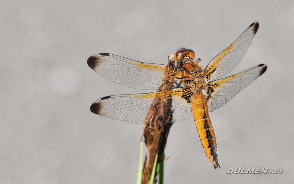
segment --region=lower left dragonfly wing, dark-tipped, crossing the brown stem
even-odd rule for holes
[[[192,89],[189,87],[163,90],[145,94],[113,95],[95,101],[90,110],[101,116],[132,123],[145,124],[150,105],[156,98],[172,99],[173,122],[191,115]],[[163,110],[158,109],[159,112]],[[167,114],[169,116],[169,114]],[[146,123],[148,124],[148,123]]]

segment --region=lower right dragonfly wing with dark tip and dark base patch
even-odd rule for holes
[[[240,90],[262,75],[266,68],[266,64],[259,64],[239,74],[209,82],[207,90],[209,111],[214,111],[231,100]]]

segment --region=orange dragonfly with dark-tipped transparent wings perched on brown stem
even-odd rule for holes
[[[200,64],[201,59],[196,58],[195,52],[187,48],[180,48],[171,55],[174,66],[142,63],[109,53],[89,57],[87,63],[90,68],[106,79],[130,88],[157,90],[163,84],[164,75],[172,78],[171,89],[105,96],[92,103],[91,112],[132,123],[151,124],[148,121],[148,116],[151,116],[148,110],[152,102],[156,99],[171,99],[172,122],[182,121],[193,113],[205,154],[213,163],[214,169],[220,168],[209,112],[220,108],[266,71],[266,64],[259,64],[236,75],[224,77],[243,58],[258,27],[258,22],[252,23],[204,69]],[[164,113],[164,109],[157,111]]]

